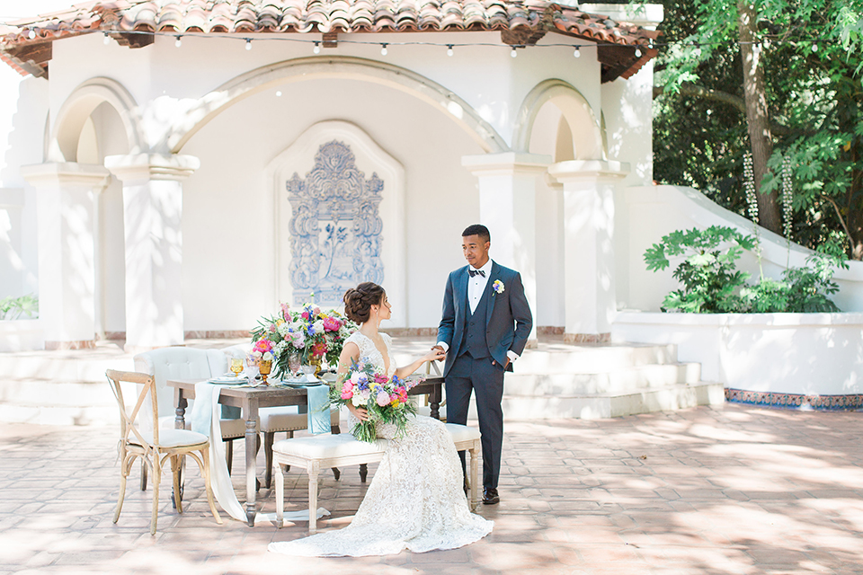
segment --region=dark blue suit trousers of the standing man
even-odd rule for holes
[[[501,475],[503,449],[503,366],[492,365],[493,358],[472,358],[465,353],[452,364],[447,374],[447,421],[465,425],[471,392],[476,393],[476,414],[483,445],[483,487],[497,489]],[[462,468],[465,453],[459,452]]]

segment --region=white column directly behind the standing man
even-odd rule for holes
[[[491,256],[521,274],[533,313],[529,345],[537,341],[537,178],[551,156],[466,155],[461,164],[479,179],[479,219],[492,235]]]

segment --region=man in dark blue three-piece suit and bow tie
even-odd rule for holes
[[[476,392],[485,505],[501,500],[497,480],[503,447],[503,373],[512,371],[533,326],[519,272],[491,261],[491,244],[485,226],[475,224],[462,232],[461,250],[468,265],[449,274],[435,346],[447,352],[443,376],[450,423],[467,423],[470,394]],[[464,466],[464,452],[458,455]]]

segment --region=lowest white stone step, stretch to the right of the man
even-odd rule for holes
[[[722,384],[698,382],[619,394],[504,395],[503,413],[511,420],[598,420],[722,403],[725,403]]]

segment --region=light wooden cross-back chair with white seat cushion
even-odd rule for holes
[[[153,483],[153,514],[150,520],[150,535],[156,535],[156,519],[159,510],[159,483],[162,479],[162,466],[165,460],[171,459],[171,471],[173,473],[173,492],[180,492],[180,469],[182,458],[190,456],[198,464],[200,474],[204,479],[207,490],[207,502],[216,523],[222,524],[222,518],[218,515],[216,502],[213,500],[213,490],[209,482],[209,438],[200,433],[188,429],[159,429],[159,411],[156,399],[156,380],[153,376],[135,372],[115,371],[109,369],[105,372],[111,391],[117,399],[120,407],[120,496],[117,500],[117,510],[114,512],[114,523],[120,518],[123,509],[123,498],[126,495],[126,479],[132,463],[136,457],[140,457],[143,464],[149,469]],[[123,401],[123,390],[120,382],[141,385],[138,402],[127,411],[126,403]],[[141,429],[138,425],[138,414],[145,402],[150,402],[150,414],[153,418],[152,430]],[[200,454],[200,456],[199,456]],[[175,497],[178,513],[182,513],[182,501]]]

